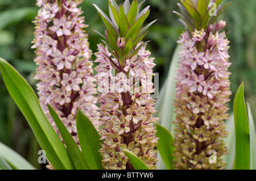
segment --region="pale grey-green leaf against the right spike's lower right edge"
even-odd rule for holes
[[[229,154],[223,155],[222,159],[226,162],[226,170],[233,170],[234,166],[234,155],[236,149],[236,131],[234,125],[234,114],[230,114],[230,118],[225,121],[226,131],[228,131],[228,137],[223,140],[228,147]]]

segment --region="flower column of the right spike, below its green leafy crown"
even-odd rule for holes
[[[200,1],[196,1],[200,2]],[[183,7],[184,9],[184,7]],[[187,12],[189,13],[189,12]],[[230,91],[225,22],[181,34],[175,112],[175,169],[224,169]],[[213,154],[214,153],[214,154]]]

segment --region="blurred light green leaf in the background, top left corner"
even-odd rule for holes
[[[34,7],[5,10],[0,14],[0,30],[10,24],[20,22],[20,20],[24,18],[32,20],[36,16],[37,12],[38,9]]]

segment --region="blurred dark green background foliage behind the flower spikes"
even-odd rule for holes
[[[184,30],[177,16],[172,13],[174,10],[179,11],[177,2],[178,0],[146,0],[144,3],[144,6],[151,6],[147,23],[158,19],[150,28],[145,40],[152,40],[147,48],[151,51],[152,57],[155,57],[154,71],[160,73],[161,85],[167,77],[176,41]],[[223,3],[225,2],[228,1],[224,0]],[[35,3],[35,0],[0,0],[0,57],[9,61],[34,89],[35,54],[30,47],[34,37],[34,24],[31,22],[39,10]],[[102,0],[84,0],[81,5],[86,24],[89,24],[86,31],[89,35],[90,48],[96,52],[101,37],[93,30],[103,33],[105,26],[92,3],[96,3],[104,12],[108,12],[108,3]],[[226,20],[226,31],[230,31],[227,35],[231,41],[230,62],[232,62],[230,79],[233,95],[230,111],[233,107],[234,94],[240,83],[244,82],[246,102],[250,103],[256,118],[256,1],[232,1],[220,19]],[[93,56],[93,60],[94,58]],[[37,162],[39,145],[34,134],[7,92],[1,75],[0,141],[18,151],[36,168],[44,167]]]

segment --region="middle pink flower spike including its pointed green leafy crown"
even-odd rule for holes
[[[126,0],[118,6],[108,1],[110,18],[96,5],[107,29],[104,44],[98,45],[96,62],[98,74],[98,101],[101,103],[102,129],[100,153],[104,169],[134,169],[125,155],[130,150],[150,169],[155,169],[158,144],[155,137],[155,113],[152,76],[155,64],[150,52],[145,50],[142,38],[147,27],[142,28],[149,7],[139,12],[142,5]],[[113,71],[112,71],[113,70]]]

